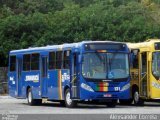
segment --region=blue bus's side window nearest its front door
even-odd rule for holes
[[[67,50],[67,51],[64,51],[64,54],[63,54],[63,68],[64,69],[69,69],[69,65],[70,65],[70,51]]]

